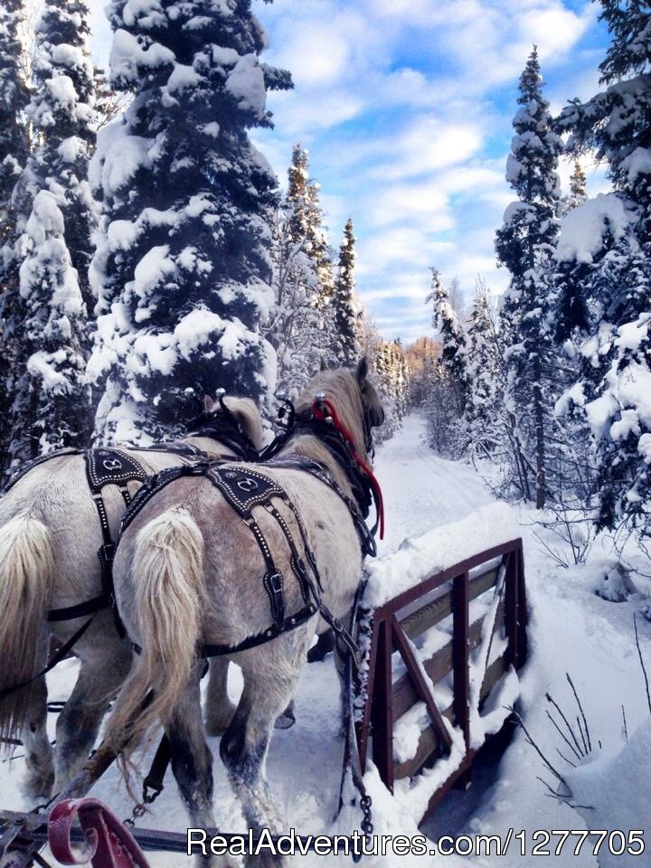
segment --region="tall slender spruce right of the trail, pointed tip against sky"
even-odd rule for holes
[[[552,355],[549,323],[551,254],[558,233],[560,202],[556,174],[561,139],[552,130],[549,103],[542,97],[542,76],[536,49],[520,78],[520,109],[506,164],[506,179],[518,198],[505,212],[495,249],[511,273],[502,319],[507,350],[508,392],[519,428],[535,462],[536,506],[547,492],[547,441],[552,398],[547,367]]]

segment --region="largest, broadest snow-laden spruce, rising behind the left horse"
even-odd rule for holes
[[[277,180],[251,145],[269,127],[250,0],[114,0],[111,85],[134,90],[102,129],[92,175],[104,203],[91,279],[99,323],[90,376],[104,439],[169,436],[222,386],[264,401],[276,358],[260,335],[273,303]]]

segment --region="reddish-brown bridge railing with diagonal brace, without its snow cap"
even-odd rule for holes
[[[496,599],[498,597],[498,599]],[[369,752],[387,788],[399,778],[412,778],[421,769],[446,757],[452,747],[450,728],[444,718],[463,734],[465,752],[447,780],[430,799],[425,816],[453,784],[467,787],[473,757],[478,746],[471,745],[470,664],[472,652],[486,642],[486,611],[471,619],[482,603],[492,612],[495,651],[488,659],[479,688],[479,708],[511,666],[519,669],[526,657],[526,598],[522,540],[515,539],[440,571],[400,593],[373,611],[366,678],[366,699],[356,722],[363,767]],[[488,604],[492,602],[491,608]],[[446,620],[447,619],[447,620]],[[450,625],[451,621],[451,625]],[[422,637],[432,627],[451,627],[451,635],[436,651],[423,659]],[[440,638],[440,637],[439,637]],[[398,659],[401,666],[398,665]],[[396,666],[393,665],[396,660]],[[394,669],[398,669],[394,677]],[[445,681],[447,679],[447,682]],[[439,708],[432,685],[452,682],[452,701]],[[477,698],[477,697],[476,697]],[[394,724],[415,703],[427,708],[429,725],[409,760],[394,759]]]

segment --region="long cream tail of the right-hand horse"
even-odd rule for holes
[[[105,741],[128,758],[181,700],[201,629],[203,536],[182,508],[138,533],[132,566],[140,649],[109,718]],[[151,695],[145,703],[145,698]]]

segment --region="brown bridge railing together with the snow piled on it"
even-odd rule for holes
[[[505,504],[434,528],[373,562],[356,721],[385,786],[424,816],[468,786],[476,751],[514,703],[526,656],[522,540]]]

